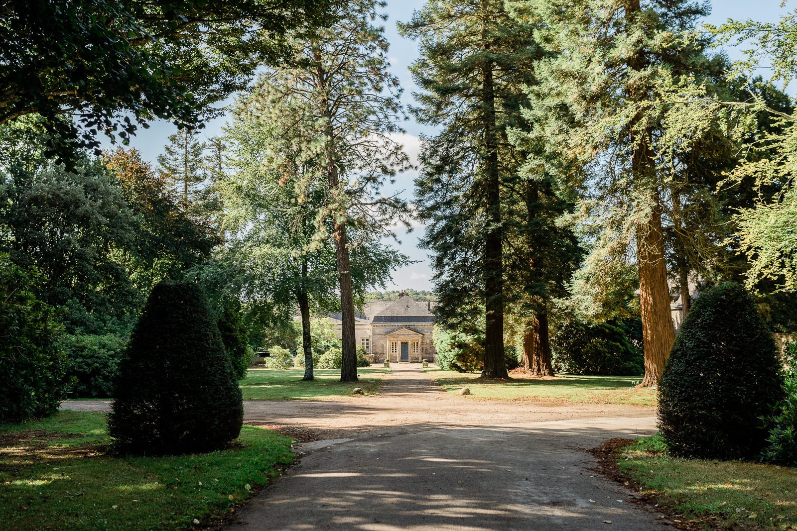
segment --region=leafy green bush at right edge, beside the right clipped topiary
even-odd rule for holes
[[[783,400],[772,408],[764,420],[769,436],[761,459],[797,468],[797,343],[789,343],[786,349]]]

